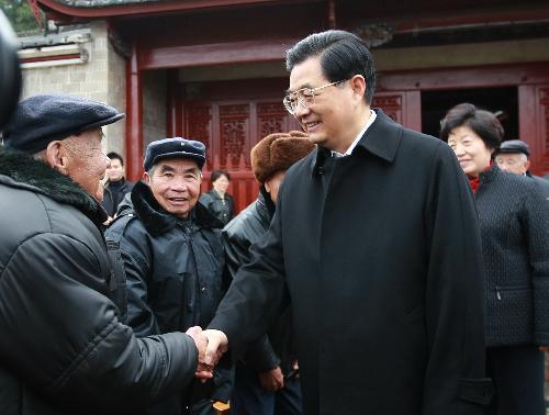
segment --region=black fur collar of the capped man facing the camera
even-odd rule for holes
[[[165,234],[178,224],[183,226],[195,224],[205,228],[223,227],[221,221],[199,202],[191,211],[189,218],[181,220],[173,216],[158,204],[150,188],[143,181],[135,183],[131,200],[137,217],[145,226],[145,229],[153,236]]]

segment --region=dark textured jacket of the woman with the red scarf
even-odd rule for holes
[[[549,227],[541,189],[495,162],[480,180],[486,346],[549,345]]]

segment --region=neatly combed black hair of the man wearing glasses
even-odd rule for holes
[[[347,80],[355,75],[366,79],[366,102],[371,103],[376,90],[376,68],[366,43],[345,31],[314,33],[287,51],[285,68],[291,71],[313,56],[321,56],[323,75],[330,82]]]

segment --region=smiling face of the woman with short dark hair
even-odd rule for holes
[[[456,153],[466,175],[477,177],[490,166],[493,149],[488,148],[468,126],[453,128],[448,135],[448,145]]]

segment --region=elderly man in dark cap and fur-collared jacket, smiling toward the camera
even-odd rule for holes
[[[131,192],[131,205],[107,231],[120,245],[127,281],[127,319],[138,336],[206,326],[225,289],[223,225],[201,203],[205,147],[175,137],[148,145],[144,180]],[[195,381],[184,391],[143,408],[144,414],[214,414],[211,400],[227,402],[228,371]]]

